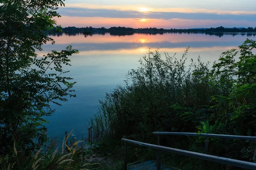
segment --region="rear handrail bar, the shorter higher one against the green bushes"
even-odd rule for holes
[[[256,136],[219,135],[210,133],[184,133],[184,132],[153,132],[154,135],[184,135],[184,136],[205,136],[225,139],[242,139],[256,141]]]

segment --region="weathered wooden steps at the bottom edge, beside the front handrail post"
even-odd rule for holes
[[[157,163],[154,160],[146,161],[127,167],[127,170],[157,170]],[[161,170],[172,170],[166,164],[161,164]]]

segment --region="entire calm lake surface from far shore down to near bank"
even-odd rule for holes
[[[66,76],[73,77],[76,97],[69,98],[63,106],[53,105],[56,112],[48,117],[47,128],[51,137],[63,139],[64,132],[74,128],[76,137],[87,137],[87,126],[90,116],[97,113],[99,100],[105,93],[110,93],[116,85],[124,85],[125,75],[132,68],[137,68],[138,60],[146,55],[148,49],[160,48],[160,52],[176,54],[180,57],[186,47],[190,46],[188,58],[211,63],[220,54],[231,48],[237,48],[246,38],[256,40],[255,34],[224,34],[222,37],[205,34],[134,34],[129,36],[93,35],[84,37],[82,34],[51,36],[55,45],[44,45],[44,51],[39,56],[47,54],[52,49],[63,50],[67,45],[73,45],[79,54],[71,57],[71,67]]]

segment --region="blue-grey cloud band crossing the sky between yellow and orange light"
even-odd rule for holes
[[[209,10],[200,10],[198,12],[192,11],[187,13],[180,9],[181,12],[167,12],[167,11],[151,11],[142,12],[134,10],[117,10],[117,9],[93,9],[93,8],[75,8],[65,7],[59,8],[58,12],[61,15],[69,17],[104,17],[104,18],[148,18],[148,19],[184,19],[184,20],[247,20],[256,21],[256,14],[233,12],[225,13],[209,13]]]

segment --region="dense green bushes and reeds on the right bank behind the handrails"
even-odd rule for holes
[[[256,136],[255,48],[256,42],[247,39],[239,51],[221,54],[212,68],[200,57],[186,67],[189,49],[180,58],[166,54],[162,59],[158,50],[149,52],[139,68],[128,73],[126,86],[117,86],[100,101],[99,112],[91,119],[94,138],[125,136],[155,143],[154,131]],[[163,145],[169,144],[200,152],[204,139],[163,137]],[[211,139],[209,153],[253,161],[255,146],[255,142]]]

